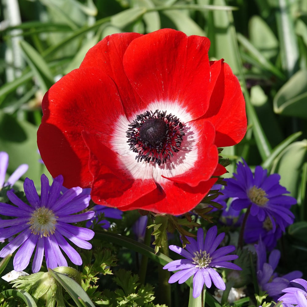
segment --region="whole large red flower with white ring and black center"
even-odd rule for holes
[[[173,29],[120,33],[45,94],[38,148],[64,186],[96,204],[179,215],[225,173],[217,147],[246,132],[245,103],[210,41]]]

